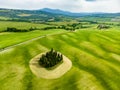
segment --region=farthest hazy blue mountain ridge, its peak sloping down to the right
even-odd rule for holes
[[[40,11],[53,13],[53,14],[62,14],[62,15],[67,15],[67,16],[72,16],[72,17],[85,17],[85,16],[91,16],[91,17],[114,17],[114,16],[120,16],[120,13],[102,13],[102,12],[73,13],[73,12],[63,11],[63,10],[60,10],[60,9],[50,9],[50,8],[43,8],[43,9],[40,9]]]

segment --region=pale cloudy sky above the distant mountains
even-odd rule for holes
[[[0,0],[0,8],[53,8],[71,12],[120,12],[120,0]]]

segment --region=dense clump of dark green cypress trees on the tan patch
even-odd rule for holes
[[[39,65],[50,68],[60,63],[63,60],[62,54],[59,54],[55,50],[51,49],[46,54],[43,54],[39,59]]]

